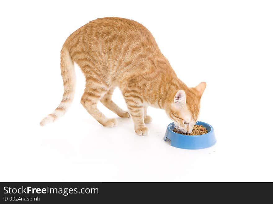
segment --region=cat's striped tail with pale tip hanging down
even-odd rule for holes
[[[64,95],[60,102],[60,105],[51,114],[46,116],[40,125],[47,125],[48,123],[54,122],[60,116],[63,116],[74,99],[75,93],[75,81],[76,74],[74,69],[74,62],[72,61],[67,48],[63,46],[60,56],[61,74],[64,81]]]

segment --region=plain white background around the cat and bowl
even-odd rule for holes
[[[1,1],[0,181],[272,182],[272,10],[272,1]],[[215,146],[171,147],[171,120],[154,108],[147,136],[100,104],[119,121],[101,126],[80,104],[78,66],[72,106],[39,126],[62,98],[62,44],[106,16],[142,23],[182,81],[207,83],[199,119],[213,125]],[[118,89],[113,100],[126,108]]]

